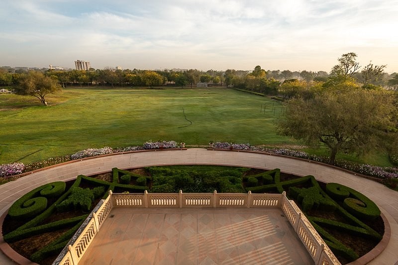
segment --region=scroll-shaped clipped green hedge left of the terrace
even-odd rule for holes
[[[32,218],[47,208],[46,197],[60,196],[65,191],[65,187],[62,181],[40,186],[17,199],[8,209],[8,215],[12,218]]]

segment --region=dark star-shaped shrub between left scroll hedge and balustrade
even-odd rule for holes
[[[58,212],[66,212],[72,209],[81,209],[82,211],[88,212],[91,210],[93,201],[94,194],[92,190],[89,188],[82,189],[80,187],[74,187],[68,199],[62,201],[56,207]]]

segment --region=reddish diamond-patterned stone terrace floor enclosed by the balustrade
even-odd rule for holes
[[[279,208],[119,207],[79,264],[314,263]]]

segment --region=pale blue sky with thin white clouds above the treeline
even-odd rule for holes
[[[0,66],[398,72],[398,0],[0,0]]]

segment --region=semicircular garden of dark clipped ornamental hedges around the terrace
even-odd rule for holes
[[[108,191],[176,192],[180,188],[184,188],[184,192],[211,192],[214,189],[218,192],[238,193],[286,191],[289,199],[296,201],[334,254],[349,262],[356,260],[359,255],[349,245],[341,242],[332,231],[372,240],[375,245],[383,236],[368,225],[369,220],[381,218],[380,209],[373,201],[340,184],[330,183],[321,188],[313,176],[286,177],[280,169],[253,175],[248,173],[250,171],[247,168],[229,167],[206,172],[164,167],[148,167],[145,171],[148,176],[113,168],[110,181],[79,175],[69,189],[66,189],[63,182],[40,186],[11,205],[6,219],[10,218],[18,225],[13,230],[3,227],[3,238],[12,243],[45,232],[66,229],[53,242],[28,257],[40,263],[47,256],[61,252],[98,202],[95,198],[105,199]],[[77,215],[76,210],[80,210]],[[50,216],[63,211],[76,216],[50,221]],[[322,213],[327,214],[327,217],[322,216]]]

